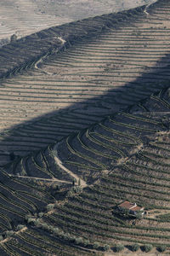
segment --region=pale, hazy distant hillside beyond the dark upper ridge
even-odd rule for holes
[[[132,9],[150,0],[127,1],[81,1],[75,0],[1,0],[0,46],[7,44],[11,35],[18,38],[59,26],[73,20],[103,15],[123,9]]]

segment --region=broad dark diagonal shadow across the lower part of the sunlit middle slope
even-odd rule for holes
[[[152,93],[169,87],[170,65],[165,65],[165,63],[168,63],[169,60],[170,55],[166,55],[158,63],[156,63],[156,67],[152,68],[150,73],[144,73],[134,82],[125,84],[118,90],[113,89],[108,91],[108,93],[104,96],[98,96],[93,98],[93,103],[92,100],[87,100],[86,102],[83,102],[83,104],[76,103],[69,108],[54,111],[52,113],[42,115],[37,119],[31,119],[31,121],[29,122],[15,125],[10,129],[10,131],[3,131],[3,139],[0,142],[0,157],[2,159],[6,158],[6,160],[9,161],[9,153],[14,152],[14,154],[18,154],[17,152],[19,151],[22,152],[22,154],[19,153],[19,155],[26,155],[31,153],[32,151],[46,148],[48,144],[56,143],[57,141],[62,139],[62,137],[67,137],[72,132],[77,132],[81,129],[85,129],[88,126],[99,122],[101,119],[105,119],[105,117],[109,114],[114,114],[117,111],[122,110],[128,111],[128,109],[131,108],[134,104],[138,104],[140,101],[144,101],[144,99],[150,97]],[[141,94],[141,89],[144,91],[144,95]],[[114,92],[114,96],[110,95],[111,92]],[[75,115],[74,117],[72,117],[73,113]],[[77,129],[73,127],[68,130],[68,126],[71,125],[71,121],[68,121],[69,117],[73,121],[77,120],[78,122],[79,119],[80,121],[82,121],[82,117],[80,118],[79,113],[81,113],[84,118],[88,119],[88,123],[85,123],[81,127],[78,127],[78,125],[76,125]],[[64,118],[61,122],[59,121],[58,123],[56,123],[56,128],[54,128],[55,134],[53,134],[53,137],[51,137],[46,142],[46,144],[42,144],[40,146],[41,139],[37,141],[38,132],[40,131],[42,137],[42,131],[44,131],[44,134],[50,134],[50,120],[54,117],[57,118],[60,116]],[[46,124],[46,130],[42,130],[44,123]],[[29,142],[30,137],[32,139],[32,131],[34,131],[37,125],[39,127],[37,128],[37,133],[33,133],[33,137],[35,136],[35,141],[30,148],[28,147],[26,149],[25,152],[20,142]],[[65,131],[63,134],[61,132],[61,129]]]

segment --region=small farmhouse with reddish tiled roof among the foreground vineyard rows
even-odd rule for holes
[[[138,207],[136,203],[124,201],[116,207],[116,211],[125,212],[129,215],[136,216],[138,213],[144,215],[144,207]]]

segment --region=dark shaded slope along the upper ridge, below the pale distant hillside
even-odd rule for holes
[[[144,17],[144,8],[145,6],[140,6],[54,26],[6,44],[0,49],[0,79],[10,78],[11,75],[30,68],[32,63],[44,55],[50,55],[54,50],[70,48],[77,41],[86,41],[88,38],[97,37],[101,32],[128,26]],[[65,47],[61,44],[59,37],[66,41]]]

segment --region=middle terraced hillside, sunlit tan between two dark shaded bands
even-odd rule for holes
[[[57,26],[3,47],[2,165],[10,152],[44,148],[167,86],[168,3],[145,11]]]

